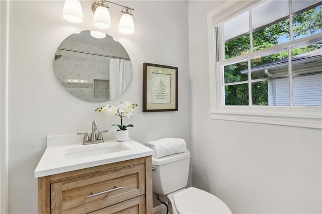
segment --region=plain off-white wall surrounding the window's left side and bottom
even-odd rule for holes
[[[321,213],[321,130],[209,119],[207,13],[189,1],[192,184],[233,213]]]

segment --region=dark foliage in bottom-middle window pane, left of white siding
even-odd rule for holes
[[[252,104],[268,105],[267,81],[252,83]]]

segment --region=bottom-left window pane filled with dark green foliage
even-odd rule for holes
[[[248,84],[226,85],[225,105],[248,105]]]

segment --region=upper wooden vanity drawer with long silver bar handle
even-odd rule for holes
[[[51,211],[88,213],[143,194],[145,165],[140,164],[51,184]]]

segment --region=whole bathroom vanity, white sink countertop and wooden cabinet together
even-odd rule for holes
[[[152,213],[151,149],[132,139],[82,145],[73,138],[47,137],[34,172],[38,213]]]

